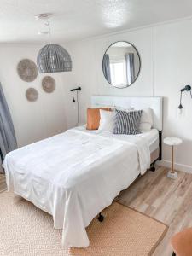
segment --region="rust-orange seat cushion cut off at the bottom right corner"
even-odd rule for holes
[[[192,255],[192,228],[183,230],[172,236],[171,243],[173,251],[177,256]]]

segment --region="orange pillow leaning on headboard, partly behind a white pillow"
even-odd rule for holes
[[[87,130],[98,130],[100,125],[100,109],[111,111],[111,108],[87,108]]]

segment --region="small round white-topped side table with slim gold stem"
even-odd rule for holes
[[[173,158],[174,158],[174,146],[177,146],[181,143],[183,143],[182,139],[179,137],[166,137],[163,142],[166,145],[172,146],[172,169],[167,173],[167,177],[171,177],[173,179],[177,178],[177,172],[174,171],[174,163],[173,163]]]

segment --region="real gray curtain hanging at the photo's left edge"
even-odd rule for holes
[[[0,84],[0,156],[3,161],[5,154],[17,148],[14,125],[9,113],[8,104]],[[1,164],[0,161],[0,164]],[[0,171],[1,172],[1,171]]]

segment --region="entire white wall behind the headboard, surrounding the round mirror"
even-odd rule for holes
[[[65,79],[69,88],[74,84],[82,86],[79,96],[81,123],[85,122],[86,108],[90,106],[93,94],[164,96],[163,136],[183,138],[183,144],[176,150],[176,168],[192,172],[192,100],[189,94],[183,96],[186,116],[177,119],[179,90],[185,84],[192,84],[191,31],[192,21],[183,20],[68,44],[73,72],[67,73]],[[102,55],[108,45],[120,40],[134,44],[142,60],[137,81],[126,89],[113,88],[102,74]],[[73,118],[76,112],[69,93],[67,106],[70,115],[67,126],[72,127],[76,122]],[[169,160],[170,148],[163,146],[162,164],[170,165]]]

